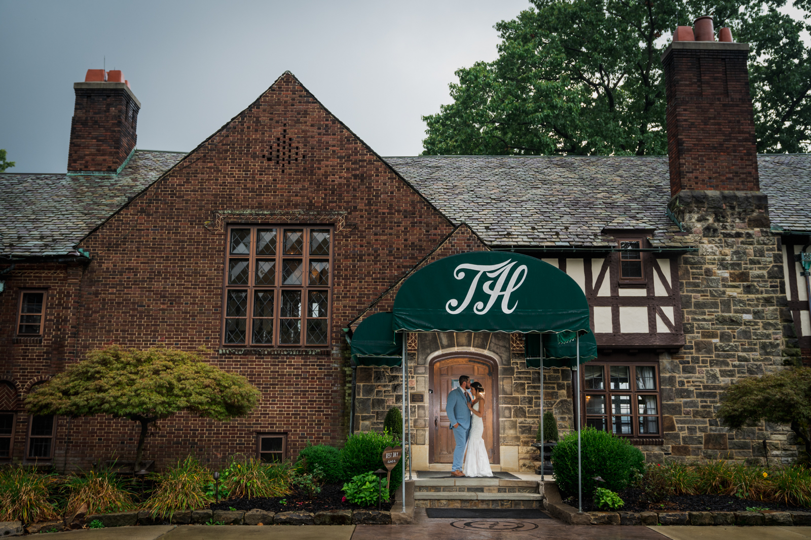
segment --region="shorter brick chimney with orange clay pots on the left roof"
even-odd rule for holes
[[[135,149],[140,101],[120,70],[88,70],[73,88],[68,172],[118,172]]]

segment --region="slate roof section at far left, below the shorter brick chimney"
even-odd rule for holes
[[[64,255],[185,156],[136,150],[118,176],[0,174],[0,257]]]

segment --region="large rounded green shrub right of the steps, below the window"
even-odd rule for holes
[[[628,440],[586,427],[581,431],[583,498],[598,487],[622,491],[645,471],[645,457]],[[565,495],[577,495],[577,432],[564,436],[552,449],[557,485]],[[599,476],[605,482],[594,480]]]

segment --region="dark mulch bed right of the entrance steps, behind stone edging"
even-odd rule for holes
[[[671,495],[661,503],[645,500],[641,489],[629,488],[620,491],[620,499],[625,503],[620,512],[744,512],[747,507],[769,508],[770,510],[797,510],[809,512],[809,508],[797,508],[785,504],[767,503],[762,500],[739,499],[732,495]],[[569,497],[564,503],[577,508],[577,497]],[[598,512],[601,508],[586,497],[583,498],[584,512]]]

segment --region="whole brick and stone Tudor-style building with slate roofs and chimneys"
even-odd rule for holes
[[[692,33],[692,32],[691,32]],[[682,35],[682,34],[680,34]],[[663,54],[669,159],[382,158],[285,73],[193,151],[136,149],[121,72],[75,83],[67,174],[0,174],[0,461],[58,470],[132,459],[136,423],[30,417],[32,388],[118,344],[195,351],[262,393],[244,419],[179,414],[145,457],[294,457],[341,445],[402,406],[400,368],[355,367],[347,334],[404,279],[454,253],[541,258],[590,304],[599,358],[545,370],[562,429],[628,436],[650,461],[796,456],[787,427],[727,432],[723,385],[811,362],[811,158],[757,155],[749,48]],[[517,334],[407,340],[413,464],[449,466],[440,396],[460,373],[493,400],[494,468],[534,466],[541,374]]]

